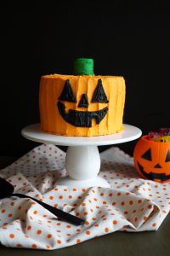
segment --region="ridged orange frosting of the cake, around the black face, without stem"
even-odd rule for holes
[[[62,102],[65,104],[65,111],[68,112],[69,109],[97,111],[107,107],[108,112],[99,125],[93,119],[92,127],[76,127],[66,123],[65,119],[59,114],[57,102],[59,101],[59,96],[61,95],[66,79],[70,80],[71,88],[77,97],[77,102]],[[94,90],[99,79],[102,80],[105,94],[109,101],[108,103],[92,102]],[[92,137],[122,131],[125,90],[125,81],[122,77],[61,74],[42,76],[39,90],[41,130],[53,134],[77,137]],[[82,94],[88,96],[88,108],[78,107]]]

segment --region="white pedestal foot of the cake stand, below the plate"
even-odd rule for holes
[[[70,146],[65,157],[68,177],[60,178],[59,185],[76,187],[100,186],[110,188],[104,178],[98,177],[100,156],[97,146]]]

